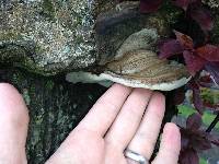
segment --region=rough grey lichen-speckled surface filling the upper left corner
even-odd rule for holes
[[[53,74],[95,61],[94,0],[1,0],[1,59]]]

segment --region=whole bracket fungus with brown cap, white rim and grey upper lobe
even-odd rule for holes
[[[154,33],[155,31],[149,30],[147,32]],[[74,83],[103,83],[110,80],[131,87],[145,87],[160,91],[171,91],[186,84],[191,75],[185,66],[176,61],[160,59],[158,55],[151,50],[153,49],[152,47],[143,47],[142,34],[147,38],[149,37],[149,33],[146,33],[146,30],[129,36],[117,50],[114,59],[102,66],[103,70],[101,73],[71,72],[67,74],[67,81]],[[139,37],[139,35],[141,37]],[[135,36],[138,36],[141,42]],[[131,44],[134,37],[136,40]],[[158,39],[157,37],[152,38]],[[151,42],[155,43],[155,40]],[[129,44],[127,45],[127,43]]]

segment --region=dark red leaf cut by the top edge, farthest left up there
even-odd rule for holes
[[[150,13],[154,12],[161,5],[162,0],[140,0],[140,12]]]

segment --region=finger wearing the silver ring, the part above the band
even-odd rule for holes
[[[142,154],[147,159],[151,157],[160,132],[164,110],[164,96],[161,93],[154,92],[146,109],[141,125],[130,141],[128,149]]]

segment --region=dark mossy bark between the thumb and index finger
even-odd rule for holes
[[[0,82],[12,83],[28,107],[30,164],[43,164],[106,90],[97,84],[73,85],[64,77],[45,78],[19,69],[1,69]]]

